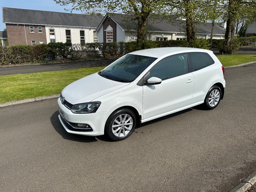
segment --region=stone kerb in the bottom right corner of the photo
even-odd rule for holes
[[[231,189],[229,192],[245,192],[256,183],[256,171],[246,177],[241,183]]]

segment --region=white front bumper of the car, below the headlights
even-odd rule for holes
[[[99,136],[104,134],[108,112],[87,114],[72,113],[68,108],[61,104],[60,98],[58,98],[58,109],[60,112],[58,118],[68,133],[87,136]],[[77,124],[87,124],[88,126],[86,128],[79,128]]]

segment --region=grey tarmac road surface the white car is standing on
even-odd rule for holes
[[[226,69],[217,108],[144,123],[120,142],[68,134],[56,99],[2,107],[0,191],[228,192],[256,170],[255,74],[256,64]]]

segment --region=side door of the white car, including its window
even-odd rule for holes
[[[159,61],[145,76],[162,79],[160,84],[143,85],[143,121],[167,115],[189,105],[194,76],[188,73],[187,54],[173,55]]]

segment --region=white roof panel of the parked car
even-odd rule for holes
[[[198,49],[191,47],[160,47],[160,48],[152,48],[152,49],[143,49],[139,51],[130,52],[132,55],[143,55],[148,57],[160,58],[167,55],[175,55],[183,52],[212,52],[207,49]]]

